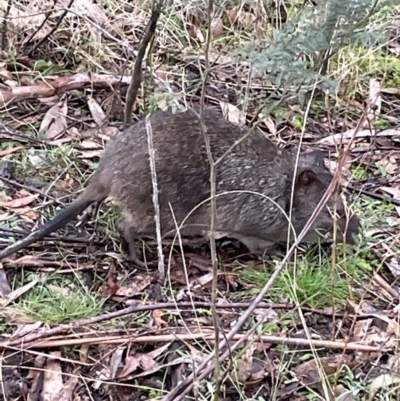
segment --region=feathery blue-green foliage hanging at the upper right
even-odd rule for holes
[[[278,87],[317,84],[326,92],[335,92],[337,82],[326,75],[328,60],[350,44],[372,47],[382,42],[387,25],[373,24],[373,17],[391,4],[392,0],[309,2],[263,43],[263,51],[253,41],[238,52],[252,60],[254,76]]]

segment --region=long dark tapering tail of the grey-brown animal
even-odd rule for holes
[[[36,231],[29,234],[27,237],[14,244],[8,246],[6,249],[0,252],[0,260],[18,252],[19,250],[26,248],[30,244],[46,237],[52,232],[64,227],[68,222],[73,220],[78,214],[82,213],[86,208],[88,208],[94,202],[93,199],[77,199],[71,205],[67,206],[62,210],[54,219],[48,221],[39,227]]]

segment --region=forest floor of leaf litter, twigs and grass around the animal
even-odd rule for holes
[[[337,94],[301,98],[251,76],[241,54],[249,43],[267,43],[303,2],[236,3],[213,16],[207,104],[228,110],[234,123],[243,116],[250,123],[264,106],[259,129],[280,147],[301,141],[324,151],[332,171],[338,144],[351,140],[369,97],[375,107],[341,179],[362,235],[354,246],[296,250],[234,337],[244,341],[221,363],[219,399],[397,400],[400,8],[374,18],[375,27],[388,24],[383,44],[343,46],[332,57],[327,75],[340,83]],[[1,1],[0,8],[7,21],[0,61],[4,249],[74,200],[118,135],[150,10],[146,1],[115,0]],[[134,107],[138,118],[177,101],[199,102],[206,22],[190,2],[163,11]],[[257,51],[263,55],[261,45]],[[147,269],[124,259],[118,214],[106,202],[1,261],[0,400],[167,400],[214,350],[209,245],[165,243],[168,278],[160,282],[154,239],[141,244]],[[285,251],[260,259],[229,239],[217,242],[221,339]],[[185,399],[217,399],[213,376],[194,382],[196,392]]]

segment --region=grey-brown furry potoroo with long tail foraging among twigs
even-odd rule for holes
[[[239,141],[248,131],[223,118],[217,110],[206,108],[203,118],[212,157],[214,161],[221,158],[215,165],[216,237],[235,238],[250,252],[258,253],[286,242],[288,230],[298,234],[332,179],[324,166],[322,152],[301,153],[296,163],[295,152],[278,148],[257,130]],[[210,165],[199,114],[191,109],[176,114],[157,112],[149,121],[162,234],[175,234],[179,227],[182,236],[207,237],[211,216]],[[93,202],[105,198],[120,206],[129,259],[140,263],[135,239],[155,236],[153,184],[144,119],[127,127],[109,143],[89,185],[72,204],[0,252],[0,259],[43,239]],[[350,243],[359,232],[357,217],[348,217],[340,198],[333,198],[320,212],[304,242],[315,242],[332,232],[333,209],[338,242]],[[290,208],[291,225],[287,218]]]

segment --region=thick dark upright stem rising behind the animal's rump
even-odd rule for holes
[[[142,82],[142,62],[144,55],[146,53],[147,45],[151,41],[152,37],[155,34],[157,21],[161,13],[162,1],[154,0],[153,8],[151,11],[150,21],[146,27],[146,33],[140,43],[140,47],[138,50],[138,54],[136,56],[135,66],[132,72],[132,81],[129,85],[128,92],[126,95],[125,102],[125,115],[124,115],[124,124],[122,128],[126,128],[132,122],[132,109],[136,100],[137,93],[139,91],[139,86]]]

